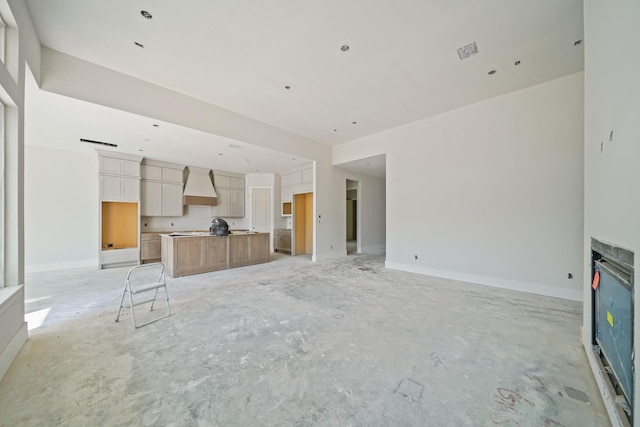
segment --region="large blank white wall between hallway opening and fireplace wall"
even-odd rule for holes
[[[580,300],[582,87],[578,73],[337,147],[386,152],[387,267]]]

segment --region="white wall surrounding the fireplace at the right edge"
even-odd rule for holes
[[[584,343],[614,425],[612,397],[605,391],[591,352],[590,240],[592,237],[635,253],[640,283],[640,2],[587,0],[585,13],[585,227]],[[609,137],[613,131],[613,140]],[[602,149],[601,149],[602,148]],[[634,292],[640,306],[640,292]],[[634,324],[640,321],[634,310]],[[640,328],[634,328],[640,342]],[[637,344],[636,344],[637,354]],[[634,361],[639,372],[640,358]],[[640,410],[640,376],[634,380],[635,418]]]

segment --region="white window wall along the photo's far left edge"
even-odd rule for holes
[[[0,181],[4,185],[4,222],[0,244],[4,245],[4,287],[0,288],[0,379],[27,340],[24,321],[24,82],[27,64],[40,76],[39,41],[22,0],[0,2],[8,24],[6,58],[0,65],[0,98],[5,104],[4,150]],[[18,30],[19,29],[19,30]],[[2,271],[3,270],[3,271]]]

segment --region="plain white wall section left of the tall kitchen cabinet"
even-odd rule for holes
[[[97,155],[25,147],[25,267],[97,266]]]

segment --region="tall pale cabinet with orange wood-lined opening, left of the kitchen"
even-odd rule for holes
[[[137,264],[140,258],[141,156],[98,152],[100,268]]]

